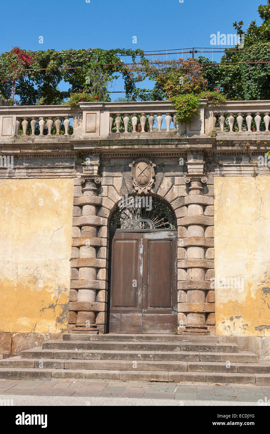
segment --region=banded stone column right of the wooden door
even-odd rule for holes
[[[186,259],[180,264],[186,268],[183,289],[187,291],[187,298],[180,308],[187,315],[183,333],[205,335],[209,333],[206,314],[215,308],[205,302],[205,290],[210,289],[210,283],[205,282],[205,269],[213,267],[213,261],[205,259],[205,226],[213,225],[213,217],[204,215],[203,207],[209,204],[210,198],[202,196],[203,184],[207,181],[202,155],[189,155],[187,166],[189,172],[184,181],[189,185],[189,195],[185,197],[188,215],[181,219],[181,225],[187,227]]]

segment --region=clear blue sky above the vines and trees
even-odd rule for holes
[[[235,33],[232,23],[260,23],[266,0],[13,0],[1,2],[0,50],[211,47],[212,33]],[[43,43],[39,43],[43,36]],[[133,43],[137,37],[137,44]],[[214,55],[220,61],[222,54]],[[211,53],[208,54],[211,58]],[[153,57],[155,58],[155,56]],[[159,57],[159,59],[164,58]],[[122,82],[114,90],[123,90]],[[121,94],[115,94],[115,97]],[[123,96],[123,94],[122,94]]]

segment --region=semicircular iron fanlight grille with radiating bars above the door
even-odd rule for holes
[[[110,223],[111,230],[168,230],[176,229],[176,218],[171,208],[157,197],[152,197],[152,209],[141,204],[116,207]]]

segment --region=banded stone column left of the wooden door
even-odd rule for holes
[[[98,333],[96,312],[104,311],[104,303],[96,302],[96,291],[105,289],[106,282],[97,280],[97,268],[106,267],[106,260],[97,256],[98,227],[104,219],[98,216],[97,207],[101,205],[98,187],[99,157],[91,156],[84,166],[80,178],[83,196],[74,199],[75,215],[73,226],[80,230],[79,237],[72,242],[72,270],[77,269],[78,277],[72,278],[71,289],[78,291],[76,301],[69,303],[70,311],[77,312],[75,328],[72,333]],[[77,210],[78,208],[78,210]],[[78,214],[76,214],[78,212]]]

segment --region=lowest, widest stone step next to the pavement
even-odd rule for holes
[[[118,381],[171,381],[202,384],[250,384],[270,386],[270,374],[240,374],[226,372],[119,371],[84,369],[0,368],[0,379],[49,380],[51,378],[103,379]]]

